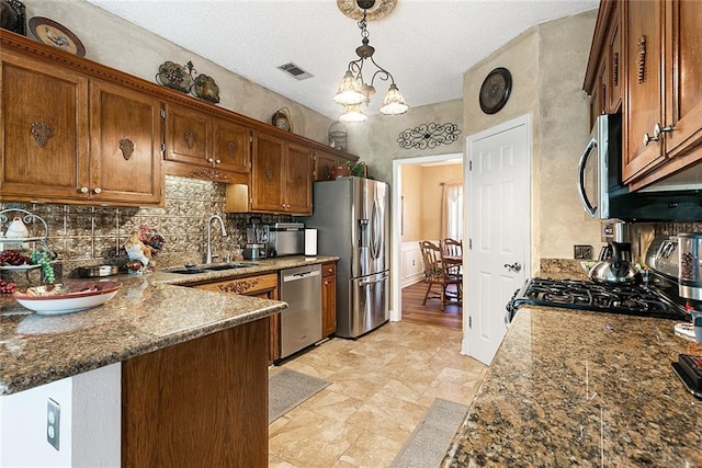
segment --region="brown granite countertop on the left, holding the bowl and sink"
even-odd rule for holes
[[[37,316],[0,297],[0,396],[26,390],[283,311],[287,305],[213,293],[189,283],[278,272],[336,256],[260,260],[251,267],[182,275],[155,272],[105,279],[123,288],[94,309]],[[98,281],[97,278],[95,281]]]

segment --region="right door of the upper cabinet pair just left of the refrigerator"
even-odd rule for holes
[[[313,151],[310,148],[287,142],[286,212],[312,215]]]

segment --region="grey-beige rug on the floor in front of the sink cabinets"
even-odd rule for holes
[[[281,369],[268,379],[268,423],[305,402],[329,384],[296,370]]]

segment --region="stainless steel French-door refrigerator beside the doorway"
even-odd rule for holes
[[[389,187],[384,182],[341,178],[315,182],[317,252],[339,256],[337,336],[358,338],[389,318]]]

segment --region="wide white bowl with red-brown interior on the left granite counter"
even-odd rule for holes
[[[15,292],[14,298],[20,305],[38,315],[78,312],[105,304],[120,292],[117,282],[80,282],[67,285],[30,287],[26,292]]]

